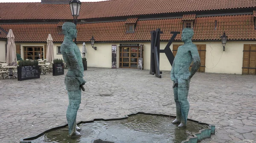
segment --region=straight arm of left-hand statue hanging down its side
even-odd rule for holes
[[[85,81],[83,79],[84,73],[81,70],[81,67],[79,66],[75,51],[71,48],[66,49],[67,57],[70,61],[70,68],[75,73],[75,76],[80,81],[80,84],[84,84]]]

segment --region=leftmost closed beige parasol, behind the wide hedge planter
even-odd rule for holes
[[[12,33],[12,29],[9,30],[7,34],[7,55],[6,55],[6,63],[9,66],[17,66],[17,56],[15,50],[15,42],[14,35]]]

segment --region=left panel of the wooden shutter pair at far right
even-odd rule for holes
[[[249,62],[250,62],[250,44],[244,44],[244,56],[243,56],[243,67],[242,74],[249,74]]]

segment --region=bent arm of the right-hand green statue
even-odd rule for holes
[[[200,56],[199,56],[198,49],[197,49],[196,45],[194,45],[190,48],[190,52],[191,52],[192,60],[193,60],[193,64],[192,64],[192,68],[191,68],[191,72],[190,72],[190,78],[192,78],[192,76],[194,76],[194,74],[200,67],[201,60],[200,60]]]

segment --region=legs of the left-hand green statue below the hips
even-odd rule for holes
[[[68,123],[68,135],[80,135],[76,131],[76,114],[81,103],[81,90],[68,91],[69,105],[67,107],[67,123]]]

